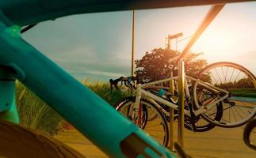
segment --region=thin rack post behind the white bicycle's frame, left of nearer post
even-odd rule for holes
[[[170,78],[174,77],[173,71],[170,72]],[[174,95],[174,80],[170,80],[170,94]],[[174,151],[174,109],[170,108],[170,126],[169,126],[169,135],[170,135],[170,151]]]

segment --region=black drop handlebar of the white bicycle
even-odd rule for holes
[[[119,89],[119,88],[117,87],[117,85],[118,85],[119,82],[121,82],[121,85],[123,85],[123,83],[124,83],[124,85],[125,85],[126,87],[128,87],[128,88],[131,88],[131,89],[132,89],[132,88],[135,88],[135,82],[134,82],[134,81],[138,81],[138,80],[137,80],[137,77],[130,76],[130,77],[119,77],[119,78],[117,78],[117,79],[115,79],[115,80],[110,79],[110,80],[109,80],[109,82],[110,82],[110,90],[111,90],[111,92],[112,92],[113,87]],[[133,82],[133,83],[132,83],[132,82]]]

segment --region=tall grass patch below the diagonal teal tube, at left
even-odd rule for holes
[[[57,133],[63,119],[47,103],[44,103],[20,83],[17,83],[16,96],[17,110],[22,126],[41,130],[48,134]]]

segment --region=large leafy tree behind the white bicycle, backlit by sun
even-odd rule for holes
[[[168,77],[171,67],[174,66],[174,63],[168,61],[179,54],[178,51],[162,48],[154,49],[151,53],[146,52],[143,58],[135,61],[136,76],[139,77],[139,81],[143,82],[157,81]],[[197,73],[207,65],[206,60],[197,59],[199,55],[201,53],[190,53],[185,58],[185,73],[191,77],[197,77]],[[177,75],[177,72],[174,71],[174,75]]]

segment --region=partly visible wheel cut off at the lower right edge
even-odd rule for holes
[[[251,149],[256,150],[256,119],[251,120],[243,131],[243,141]]]

